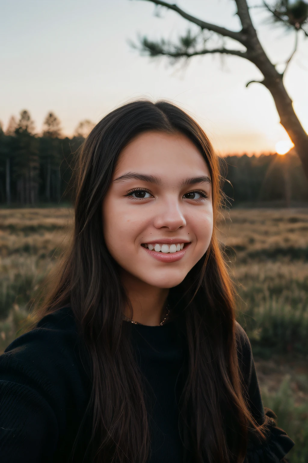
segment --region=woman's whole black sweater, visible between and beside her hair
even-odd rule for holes
[[[128,323],[128,322],[123,322]],[[239,360],[256,416],[264,414],[250,344],[238,326]],[[182,463],[175,400],[183,350],[175,323],[133,325],[137,361],[151,400],[149,463]],[[0,462],[69,462],[91,391],[85,358],[69,307],[47,315],[36,328],[10,344],[0,356]],[[150,402],[148,402],[150,403]],[[86,416],[86,415],[85,415]],[[73,462],[90,462],[87,443],[91,419],[85,419]],[[249,463],[278,463],[294,445],[284,431],[269,428],[265,444],[248,445]]]

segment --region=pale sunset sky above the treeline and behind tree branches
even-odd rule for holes
[[[174,3],[173,1],[170,3]],[[251,5],[260,0],[250,1]],[[233,0],[180,0],[177,5],[208,22],[239,30]],[[236,56],[201,56],[170,66],[167,58],[139,56],[128,39],[176,38],[192,25],[174,12],[153,13],[140,0],[12,0],[0,13],[0,121],[28,109],[42,129],[46,113],[61,120],[71,136],[82,119],[97,123],[128,100],[168,99],[199,122],[220,154],[275,150],[287,134],[279,125],[271,94],[260,84],[245,85],[261,75]],[[284,63],[294,35],[260,25],[266,13],[252,11],[254,25],[268,56]],[[231,41],[228,46],[235,46]],[[299,40],[285,85],[302,125],[308,131],[308,39]]]

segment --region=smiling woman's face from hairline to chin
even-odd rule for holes
[[[205,254],[213,230],[210,171],[181,133],[148,131],[121,152],[103,199],[115,261],[151,286],[172,288]]]

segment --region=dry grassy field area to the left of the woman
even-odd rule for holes
[[[66,248],[72,219],[69,208],[0,209],[0,351]]]

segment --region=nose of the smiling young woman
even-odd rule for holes
[[[177,201],[164,201],[158,208],[153,224],[155,228],[166,227],[170,232],[175,232],[178,228],[185,227],[186,220]]]

